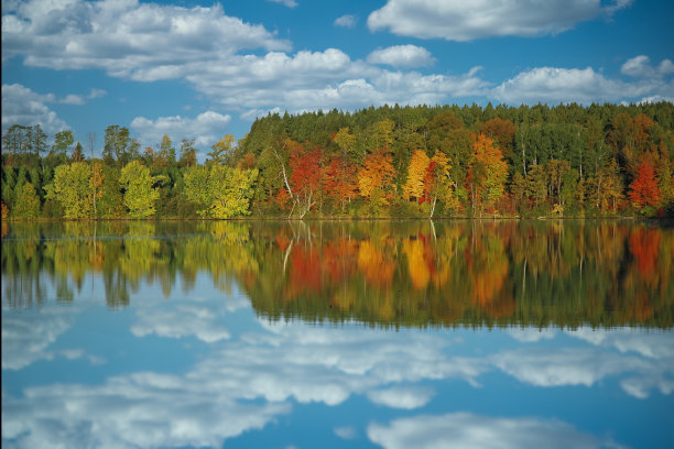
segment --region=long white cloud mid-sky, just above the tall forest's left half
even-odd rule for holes
[[[336,48],[294,56],[241,56],[224,66],[204,65],[187,79],[227,108],[244,105],[249,110],[269,110],[282,106],[293,112],[394,102],[436,103],[448,96],[482,92],[487,86],[476,77],[476,70],[458,76],[390,72],[351,61]]]

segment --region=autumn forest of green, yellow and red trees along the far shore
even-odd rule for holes
[[[95,142],[9,128],[2,218],[674,216],[667,101],[270,113],[203,163],[195,140],[167,134],[141,149],[109,125]]]

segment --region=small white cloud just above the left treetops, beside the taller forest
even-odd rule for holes
[[[230,120],[229,114],[214,111],[199,113],[194,119],[181,116],[160,117],[156,120],[137,117],[131,121],[131,129],[146,145],[159,143],[164,134],[168,134],[176,149],[182,139],[195,139],[196,146],[208,146],[225,134]]]

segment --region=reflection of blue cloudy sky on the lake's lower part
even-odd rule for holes
[[[632,447],[672,438],[672,332],[257,319],[197,278],[2,310],[8,447]],[[311,430],[309,430],[311,429]]]

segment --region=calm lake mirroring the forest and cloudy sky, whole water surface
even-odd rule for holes
[[[671,447],[674,229],[2,222],[2,446]]]

